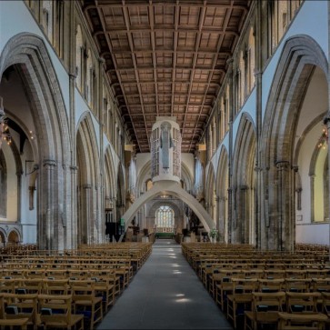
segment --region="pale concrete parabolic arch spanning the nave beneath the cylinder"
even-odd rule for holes
[[[205,211],[205,208],[198,203],[194,196],[188,194],[178,183],[174,181],[157,181],[154,186],[148,190],[144,195],[141,195],[135,200],[135,203],[122,215],[125,220],[125,230],[130,224],[131,220],[137,213],[137,211],[145,205],[148,201],[155,198],[157,195],[175,195],[180,198],[186,205],[195,212],[199,220],[205,227],[206,231],[210,231],[215,227],[215,223],[211,216]]]

